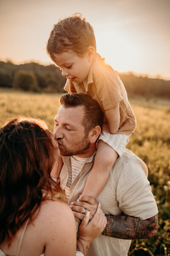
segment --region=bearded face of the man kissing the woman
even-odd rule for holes
[[[90,142],[82,125],[84,111],[82,106],[59,108],[54,118],[54,134],[62,156],[77,155],[86,157]]]

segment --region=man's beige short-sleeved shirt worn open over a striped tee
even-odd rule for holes
[[[63,157],[63,162],[60,173],[62,189],[65,188],[68,174],[71,172],[70,157]],[[68,204],[77,201],[82,193],[93,163],[94,155],[82,166],[72,183]],[[104,189],[96,198],[105,214],[118,216],[124,213],[144,220],[158,213],[145,173],[145,163],[125,149],[122,157],[114,163]],[[88,256],[127,256],[130,243],[131,240],[100,235],[91,243]]]

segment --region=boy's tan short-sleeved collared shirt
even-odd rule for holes
[[[105,64],[105,58],[101,58],[98,53],[94,57],[88,74],[86,90],[83,83],[77,84],[70,79],[67,79],[64,89],[68,93],[85,93],[90,95],[99,103],[103,112],[119,103],[120,125],[118,132],[115,134],[130,136],[136,128],[136,118],[130,107],[121,79],[111,66]],[[104,119],[104,122],[106,122],[106,119]]]

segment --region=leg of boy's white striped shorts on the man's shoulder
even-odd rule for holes
[[[128,136],[125,134],[110,134],[108,132],[102,131],[99,140],[103,140],[105,143],[111,146],[119,157],[122,156],[127,143],[129,142]]]

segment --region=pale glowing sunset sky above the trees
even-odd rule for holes
[[[74,12],[91,23],[113,69],[170,79],[170,0],[0,0],[0,60],[52,63],[48,35]]]

